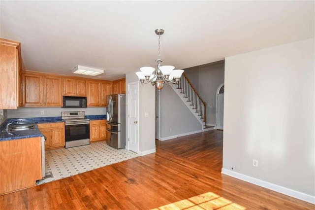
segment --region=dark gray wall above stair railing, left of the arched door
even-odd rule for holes
[[[202,100],[207,103],[207,125],[215,125],[217,90],[224,82],[224,61],[192,67],[186,69],[185,74]]]

